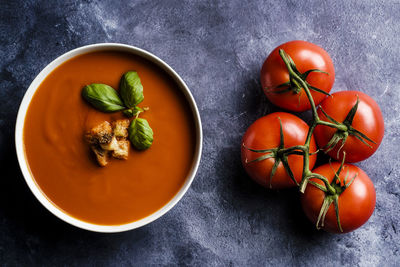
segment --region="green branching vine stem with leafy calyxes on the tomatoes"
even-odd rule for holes
[[[245,164],[252,164],[254,162],[274,158],[275,162],[274,162],[274,165],[271,170],[270,177],[269,177],[270,185],[271,185],[271,179],[274,176],[278,165],[280,163],[282,163],[286,172],[289,174],[290,178],[299,187],[299,191],[301,193],[305,192],[308,184],[311,184],[314,187],[318,188],[319,190],[323,191],[325,193],[325,198],[323,200],[323,203],[322,203],[322,206],[321,206],[318,218],[317,218],[316,227],[319,229],[320,226],[324,225],[325,215],[328,212],[329,207],[333,204],[334,208],[335,208],[335,213],[336,213],[337,226],[338,226],[340,232],[343,232],[341,222],[340,222],[340,217],[339,217],[338,199],[339,199],[339,195],[342,194],[352,184],[352,182],[354,181],[354,179],[356,178],[357,175],[354,175],[354,177],[352,177],[350,180],[348,179],[348,175],[346,175],[346,177],[343,180],[340,180],[339,175],[340,175],[341,171],[343,170],[343,166],[344,166],[344,162],[345,162],[345,155],[346,155],[345,151],[342,151],[342,153],[343,153],[342,162],[340,164],[339,169],[335,172],[334,178],[332,179],[331,182],[329,182],[329,180],[325,176],[315,173],[315,172],[312,172],[310,170],[310,156],[312,154],[316,153],[316,152],[312,152],[312,153],[310,152],[310,142],[312,140],[313,132],[318,125],[328,126],[328,127],[336,129],[336,132],[333,135],[333,137],[331,138],[331,140],[328,142],[328,144],[325,147],[322,148],[322,150],[324,150],[326,152],[331,150],[336,145],[338,145],[339,142],[341,142],[341,144],[342,144],[341,148],[342,148],[349,135],[355,136],[358,140],[360,140],[362,143],[364,143],[367,146],[370,146],[370,145],[366,142],[366,140],[369,142],[372,142],[372,143],[374,143],[374,142],[373,142],[373,140],[368,138],[365,134],[354,129],[351,126],[353,118],[354,118],[355,113],[358,108],[358,103],[359,103],[358,99],[357,99],[356,104],[351,108],[351,110],[349,111],[349,113],[347,114],[347,116],[343,122],[336,121],[335,119],[330,117],[328,114],[326,114],[325,111],[322,109],[321,109],[321,112],[325,115],[325,117],[327,118],[328,121],[321,120],[318,116],[317,107],[316,107],[316,104],[314,102],[314,99],[313,99],[313,96],[312,96],[310,90],[314,90],[319,93],[324,93],[326,95],[329,95],[329,93],[326,93],[316,87],[311,86],[306,81],[306,78],[307,78],[308,74],[310,74],[311,72],[319,72],[324,75],[329,75],[329,73],[318,70],[318,69],[311,69],[311,70],[307,70],[304,73],[300,73],[295,65],[295,62],[283,49],[279,49],[279,55],[287,67],[287,71],[289,73],[289,81],[273,88],[273,89],[281,89],[282,88],[282,90],[274,91],[274,92],[277,94],[280,94],[280,93],[286,93],[286,92],[292,91],[295,94],[301,94],[301,92],[302,92],[301,90],[304,90],[304,92],[308,98],[308,101],[311,105],[312,122],[309,125],[307,137],[306,137],[306,140],[303,145],[296,145],[296,146],[285,148],[284,135],[283,135],[283,131],[282,131],[282,122],[279,118],[279,123],[280,123],[279,146],[276,148],[272,148],[272,149],[252,149],[252,148],[246,147],[243,143],[243,146],[245,147],[245,149],[250,150],[252,152],[264,154],[264,155],[254,159],[254,160],[251,160],[251,161],[248,161],[246,159]],[[338,152],[337,152],[338,154],[341,151],[341,148],[338,150]],[[298,183],[296,181],[296,179],[294,178],[292,170],[290,169],[290,166],[287,161],[287,157],[292,154],[301,155],[303,157],[303,170],[302,170],[302,177],[301,177],[300,183]],[[322,181],[323,184],[316,183],[316,182],[312,181],[311,179],[318,179],[318,180]]]

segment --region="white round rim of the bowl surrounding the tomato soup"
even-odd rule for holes
[[[127,224],[122,224],[122,225],[97,225],[97,224],[92,224],[88,223],[82,220],[79,220],[77,218],[74,218],[64,211],[62,211],[60,208],[55,206],[52,202],[48,200],[48,198],[44,195],[44,193],[40,190],[39,186],[36,184],[32,174],[29,171],[28,163],[26,160],[25,152],[24,152],[24,141],[23,141],[23,128],[24,128],[24,122],[25,122],[25,117],[26,117],[26,112],[29,106],[29,103],[32,100],[33,95],[35,94],[36,90],[38,89],[39,85],[42,83],[42,81],[49,75],[55,68],[57,68],[59,65],[64,63],[65,61],[76,57],[78,55],[86,54],[89,52],[95,52],[95,51],[121,51],[121,52],[128,52],[137,56],[140,56],[142,58],[145,58],[153,63],[155,63],[157,66],[161,67],[164,71],[167,72],[167,74],[173,78],[173,80],[176,82],[176,84],[179,86],[180,90],[183,92],[184,96],[186,97],[187,102],[189,103],[189,106],[191,108],[191,111],[193,113],[193,120],[195,123],[196,127],[196,147],[195,147],[195,155],[193,158],[192,162],[192,167],[190,169],[190,172],[186,178],[186,181],[184,185],[181,187],[179,192],[167,203],[165,204],[161,209],[157,210],[156,212],[150,214],[149,216],[140,219],[138,221],[132,222],[132,223],[127,223]],[[21,105],[19,107],[18,115],[17,115],[17,123],[15,127],[15,145],[16,145],[16,150],[17,150],[17,157],[19,161],[19,166],[21,168],[22,174],[24,175],[25,181],[28,184],[29,188],[31,189],[32,193],[35,195],[35,197],[39,200],[40,203],[42,203],[43,206],[45,206],[51,213],[53,213],[55,216],[60,218],[61,220],[72,224],[76,227],[90,230],[90,231],[95,231],[95,232],[104,232],[104,233],[114,233],[114,232],[122,232],[122,231],[127,231],[127,230],[132,230],[138,227],[141,227],[143,225],[146,225],[158,218],[160,218],[162,215],[164,215],[167,211],[169,211],[173,206],[175,206],[176,203],[183,197],[183,195],[186,193],[188,190],[190,184],[192,183],[196,172],[197,168],[200,163],[200,157],[201,157],[201,151],[202,151],[202,143],[203,143],[203,133],[202,133],[202,128],[201,128],[201,120],[200,120],[200,115],[199,111],[196,106],[196,102],[190,93],[189,88],[185,84],[185,82],[182,80],[182,78],[164,61],[162,61],[160,58],[156,57],[155,55],[134,47],[130,45],[124,45],[124,44],[115,44],[115,43],[104,43],[104,44],[93,44],[93,45],[87,45],[83,47],[76,48],[72,51],[69,51],[65,53],[64,55],[58,57],[55,59],[53,62],[51,62],[49,65],[47,65],[36,78],[33,80],[31,85],[29,86],[28,90],[25,93],[24,98],[22,99]]]

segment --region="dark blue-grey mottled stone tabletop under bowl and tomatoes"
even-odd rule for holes
[[[394,0],[0,1],[1,264],[400,264],[399,14]],[[324,47],[336,68],[333,90],[366,92],[385,117],[380,149],[357,164],[375,183],[376,210],[349,234],[314,230],[295,191],[266,191],[241,167],[244,131],[276,110],[260,90],[261,64],[293,39]],[[13,140],[19,103],[40,70],[99,42],[135,45],[169,63],[191,89],[204,128],[201,165],[184,198],[120,234],[79,230],[45,210],[23,180]]]

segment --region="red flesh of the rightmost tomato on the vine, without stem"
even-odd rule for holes
[[[342,160],[342,151],[346,152],[346,162],[358,162],[364,160],[370,157],[382,142],[384,133],[383,116],[378,104],[376,104],[376,102],[368,95],[357,91],[337,92],[332,94],[331,97],[327,97],[321,103],[321,108],[336,121],[343,122],[351,108],[356,104],[357,96],[360,102],[351,126],[365,134],[368,138],[373,140],[375,144],[365,140],[366,143],[371,146],[369,147],[354,135],[349,135],[346,143],[339,151],[339,157],[338,150],[342,146],[341,141],[339,141],[339,143],[328,152],[328,154],[336,160]],[[320,109],[318,109],[318,116],[321,120],[328,121]],[[336,129],[334,128],[318,125],[314,131],[318,146],[323,148],[335,132]]]

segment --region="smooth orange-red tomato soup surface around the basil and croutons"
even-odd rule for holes
[[[140,117],[154,131],[145,151],[132,146],[128,160],[99,167],[84,133],[103,121],[125,118],[102,113],[81,97],[83,86],[117,89],[123,73],[135,70],[150,107]],[[47,198],[78,219],[119,225],[154,213],[180,190],[195,151],[193,115],[178,85],[155,64],[123,52],[94,52],[55,69],[36,91],[24,125],[30,171]]]

